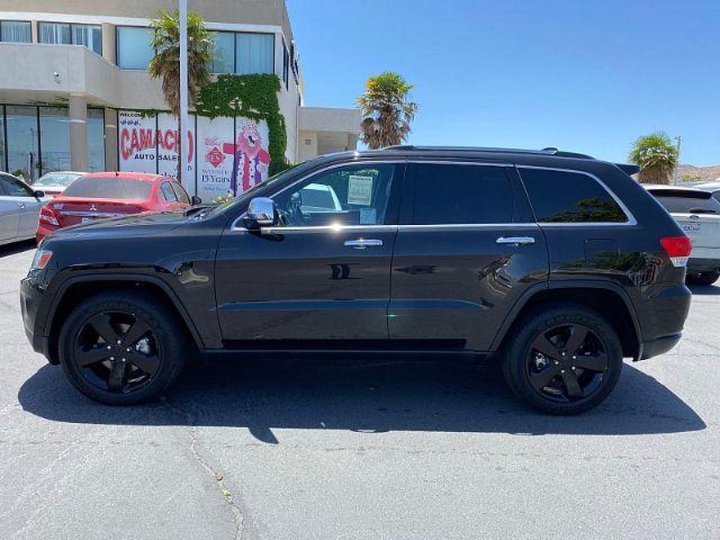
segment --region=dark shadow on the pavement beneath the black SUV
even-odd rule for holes
[[[630,364],[602,405],[564,418],[525,408],[495,369],[431,362],[190,366],[166,399],[128,408],[89,400],[48,365],[23,384],[18,400],[25,411],[58,422],[243,427],[270,444],[278,442],[273,428],[629,435],[706,427]]]

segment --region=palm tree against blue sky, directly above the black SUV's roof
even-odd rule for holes
[[[357,99],[363,142],[372,149],[399,145],[410,134],[418,104],[408,101],[413,85],[392,71],[370,77]]]

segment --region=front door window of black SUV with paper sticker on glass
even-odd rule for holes
[[[333,168],[276,195],[274,202],[288,227],[384,225],[393,176],[392,163]]]

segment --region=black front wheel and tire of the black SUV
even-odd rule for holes
[[[60,364],[73,386],[96,401],[144,402],[166,392],[184,367],[192,345],[179,328],[179,317],[150,295],[96,294],[63,324]]]

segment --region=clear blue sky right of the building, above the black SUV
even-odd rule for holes
[[[720,0],[287,0],[307,105],[397,71],[408,142],[557,146],[626,161],[639,135],[720,163]]]

